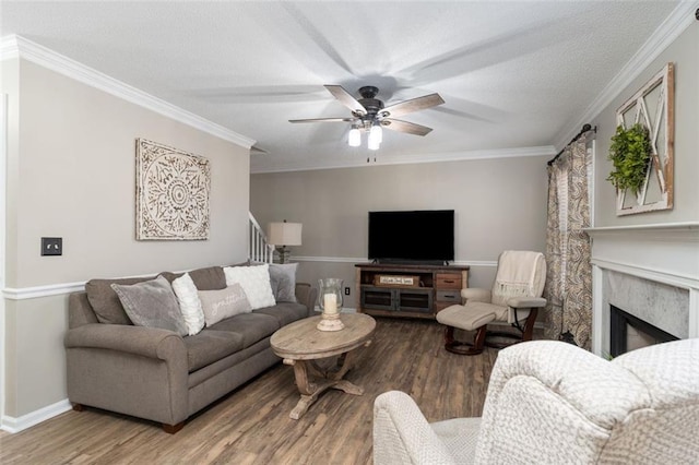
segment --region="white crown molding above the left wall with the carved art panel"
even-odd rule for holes
[[[256,143],[252,139],[168,104],[22,36],[0,38],[0,61],[17,57],[246,148]]]

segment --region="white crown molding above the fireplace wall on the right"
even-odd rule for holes
[[[574,123],[560,131],[556,136],[557,147],[565,147],[582,128],[592,121],[614,99],[620,95],[636,78],[638,78],[652,61],[655,60],[682,33],[696,20],[695,10],[699,4],[696,1],[680,1],[673,12],[657,26],[655,32],[645,40],[638,51],[627,61],[621,70],[602,90],[600,95],[590,104],[582,117]]]

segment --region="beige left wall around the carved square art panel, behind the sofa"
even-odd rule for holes
[[[11,131],[3,422],[21,422],[67,397],[68,284],[247,258],[249,151],[24,59],[3,61],[2,78]],[[209,158],[209,240],[134,239],[138,138]],[[39,255],[43,236],[63,238],[62,257]]]

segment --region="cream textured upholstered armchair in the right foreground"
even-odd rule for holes
[[[699,338],[612,361],[558,341],[498,354],[482,418],[428,424],[407,394],[374,404],[374,463],[696,464]]]

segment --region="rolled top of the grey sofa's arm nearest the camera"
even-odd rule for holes
[[[123,351],[161,360],[182,357],[187,348],[179,334],[156,327],[126,324],[84,324],[68,330],[63,339],[66,348],[103,348]]]

